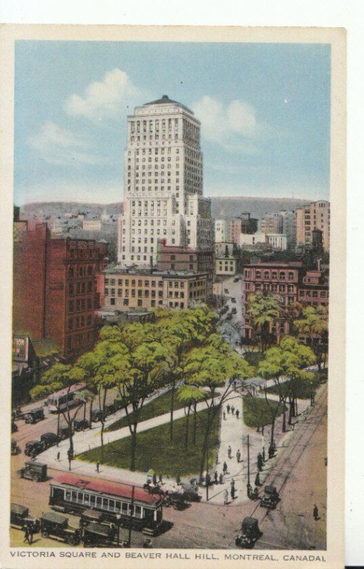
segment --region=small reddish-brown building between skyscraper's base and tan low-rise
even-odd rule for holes
[[[214,276],[214,253],[212,251],[196,251],[188,247],[167,245],[167,241],[161,239],[158,241],[157,270],[207,272],[207,297],[212,294]]]

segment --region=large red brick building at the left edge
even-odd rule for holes
[[[95,240],[51,239],[46,223],[25,231],[14,243],[14,332],[50,339],[67,358],[92,348],[106,255]]]

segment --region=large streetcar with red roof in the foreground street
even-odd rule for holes
[[[104,514],[103,519],[130,526],[147,535],[155,535],[162,526],[162,499],[145,494],[142,488],[118,482],[85,479],[65,473],[49,484],[49,505],[53,510],[82,514],[93,509]]]

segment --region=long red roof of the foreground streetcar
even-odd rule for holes
[[[132,498],[132,486],[127,484],[120,484],[119,482],[108,482],[95,479],[85,479],[75,476],[75,474],[60,474],[58,477],[53,478],[51,484],[67,484],[68,486],[76,486],[82,490],[93,490],[95,492],[103,492],[104,494],[112,494],[113,496],[120,496],[120,498]],[[137,501],[146,502],[147,504],[155,505],[160,501],[160,496],[147,494],[142,488],[135,486],[134,499]]]

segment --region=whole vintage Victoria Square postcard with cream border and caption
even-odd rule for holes
[[[0,34],[2,565],[342,568],[345,30]]]

